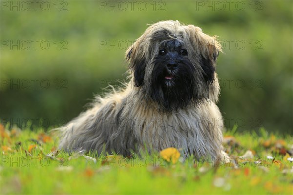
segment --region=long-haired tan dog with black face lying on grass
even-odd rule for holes
[[[216,36],[199,27],[172,20],[150,25],[126,51],[130,82],[96,97],[69,122],[59,149],[128,156],[175,147],[185,156],[223,156],[220,52]]]

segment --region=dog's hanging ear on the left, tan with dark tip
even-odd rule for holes
[[[146,60],[142,52],[139,52],[139,42],[136,41],[126,52],[126,60],[129,61],[129,69],[134,77],[134,86],[143,85],[146,69]]]

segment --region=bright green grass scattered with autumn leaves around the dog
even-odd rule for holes
[[[236,160],[213,165],[193,157],[172,164],[159,154],[53,155],[57,141],[43,129],[8,131],[1,126],[0,132],[0,194],[293,193],[291,135],[227,131],[223,145]]]

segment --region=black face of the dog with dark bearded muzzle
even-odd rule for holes
[[[180,108],[193,98],[195,67],[188,58],[182,41],[173,39],[160,43],[158,55],[153,60],[150,96],[164,108]]]

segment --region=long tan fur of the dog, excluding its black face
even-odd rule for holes
[[[163,30],[172,32],[166,35]],[[166,32],[164,31],[164,32]],[[159,52],[159,44],[166,39],[178,39],[185,44],[189,59],[197,68],[199,93],[206,97],[202,102],[190,102],[186,108],[165,112],[149,93],[152,82],[152,62]],[[221,51],[216,37],[202,32],[199,27],[185,26],[178,21],[161,21],[151,25],[126,52],[130,54],[130,78],[137,61],[146,61],[144,84],[133,86],[130,81],[125,89],[106,97],[97,97],[92,108],[81,113],[62,130],[60,149],[72,151],[82,147],[86,151],[132,152],[160,151],[167,147],[181,149],[183,154],[196,157],[223,156],[221,153],[222,117],[216,106],[219,95],[215,74],[210,85],[204,83],[200,56],[214,60]],[[215,65],[215,61],[214,61]],[[208,87],[206,87],[208,86]]]

